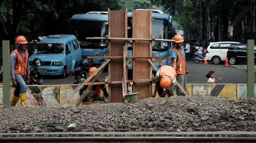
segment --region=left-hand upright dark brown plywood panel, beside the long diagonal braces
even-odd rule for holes
[[[109,37],[125,38],[125,11],[109,11]],[[110,40],[109,56],[123,56],[125,40]],[[123,78],[123,59],[111,59],[109,64],[109,77],[111,81],[121,81]],[[109,86],[111,102],[123,102],[122,84]]]

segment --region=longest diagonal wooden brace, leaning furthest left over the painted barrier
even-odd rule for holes
[[[103,69],[107,63],[109,63],[110,59],[107,59],[96,71],[94,71],[94,73],[92,75],[90,75],[82,84],[80,84],[72,93],[70,93],[70,95],[65,98],[62,102],[60,102],[59,105],[57,105],[57,107],[62,107],[68,100],[70,100],[70,98],[72,98],[85,84],[87,84],[87,82],[89,82],[91,79],[93,79],[93,77],[101,70]]]

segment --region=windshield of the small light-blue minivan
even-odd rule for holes
[[[63,43],[38,43],[34,54],[64,54]]]

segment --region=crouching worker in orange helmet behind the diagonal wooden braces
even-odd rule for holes
[[[94,73],[94,71],[96,71],[97,68],[96,67],[92,67],[89,69],[89,75],[92,75]],[[91,81],[90,81],[91,82]],[[96,80],[96,82],[100,82],[100,80]],[[88,82],[89,83],[89,82]],[[79,95],[83,95],[84,94],[84,91],[85,89],[87,89],[87,85],[85,85],[83,88],[80,89],[79,91]],[[104,97],[100,97],[100,92],[101,90],[103,91],[103,96]],[[83,102],[87,102],[87,99],[88,98],[93,98],[94,101],[107,101],[108,99],[108,93],[107,93],[107,89],[106,89],[106,86],[105,84],[96,84],[96,85],[93,85],[92,88],[90,89],[90,91],[87,93],[87,95],[85,96]]]

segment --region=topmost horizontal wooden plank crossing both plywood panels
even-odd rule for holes
[[[100,39],[104,39],[104,40],[135,40],[135,41],[175,41],[175,40],[170,40],[170,39],[153,39],[153,38],[113,38],[113,37],[88,37],[86,39],[90,39],[90,40],[100,40]]]

